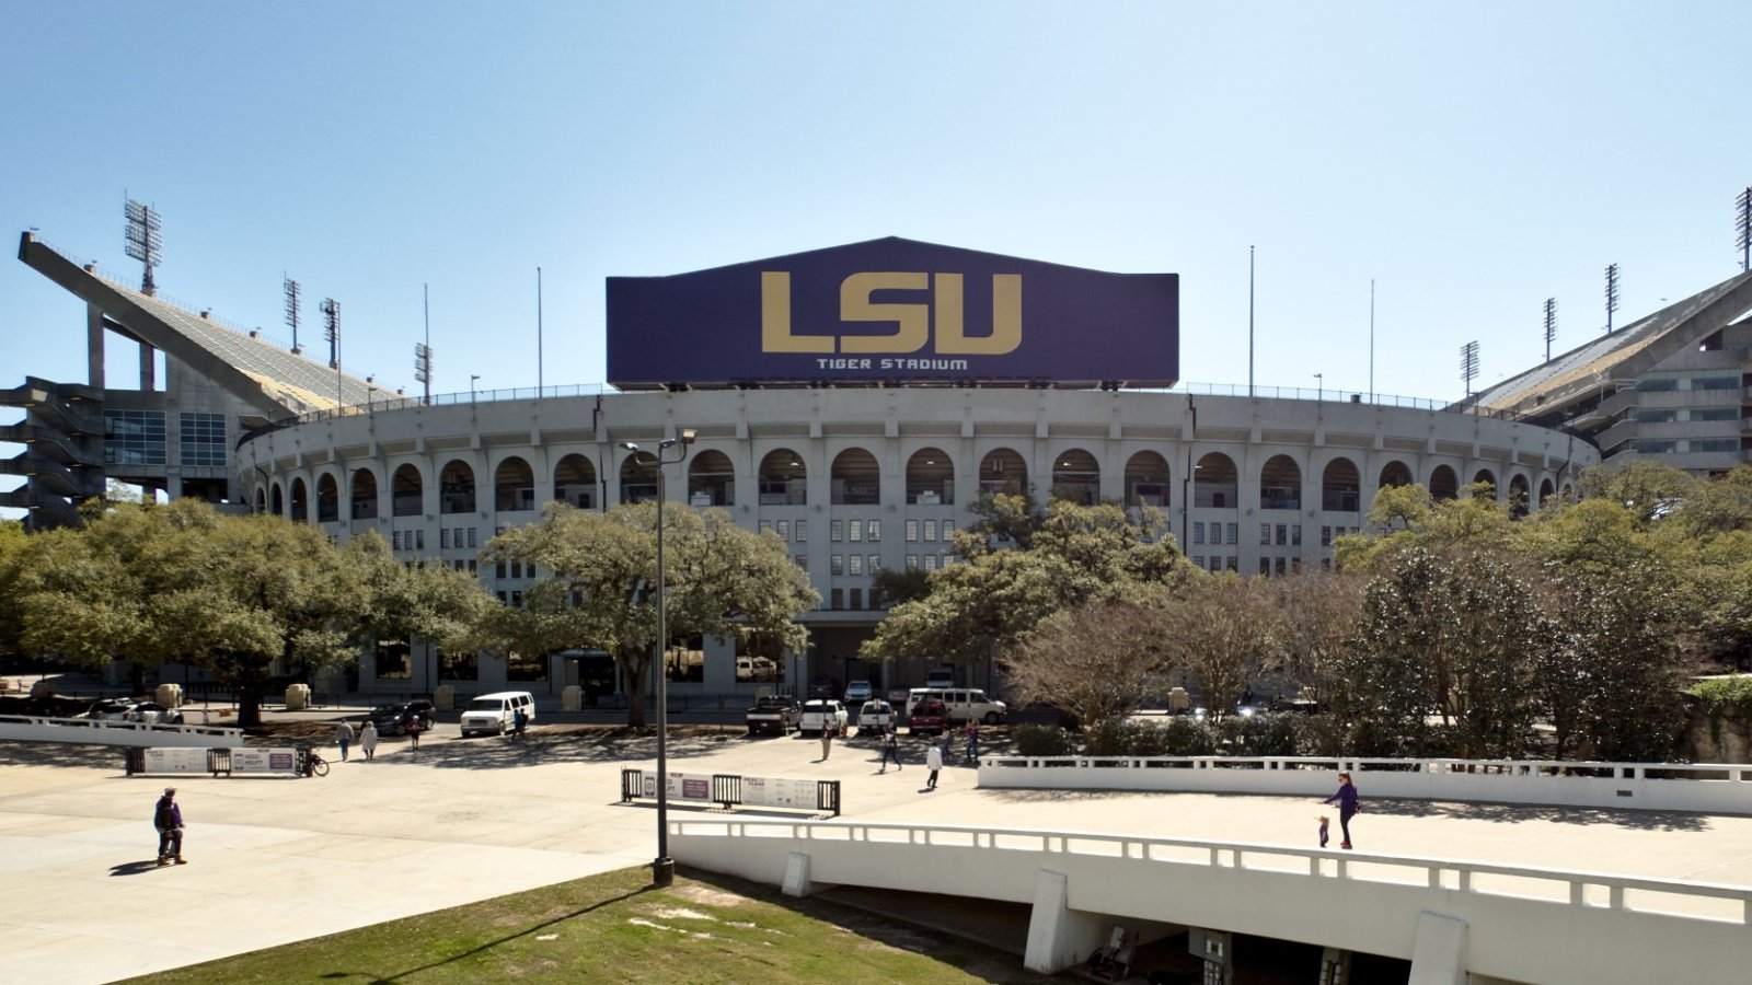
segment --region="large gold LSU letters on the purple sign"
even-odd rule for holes
[[[876,291],[925,291],[930,301],[876,303]],[[992,335],[969,338],[962,330],[960,273],[853,273],[839,282],[841,321],[892,322],[887,335],[792,335],[790,273],[760,273],[762,352],[918,352],[930,342],[936,314],[941,356],[1004,356],[1021,345],[1021,275],[992,275]],[[836,347],[837,345],[837,347]]]

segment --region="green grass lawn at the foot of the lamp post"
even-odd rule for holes
[[[1049,981],[1021,957],[710,873],[620,869],[133,981]]]

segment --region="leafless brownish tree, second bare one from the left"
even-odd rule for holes
[[[1223,719],[1261,671],[1282,663],[1288,624],[1267,578],[1233,571],[1188,578],[1158,612],[1170,664],[1198,680]]]

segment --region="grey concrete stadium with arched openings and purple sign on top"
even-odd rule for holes
[[[1386,485],[1458,496],[1489,482],[1515,508],[1537,508],[1600,461],[1570,419],[1505,405],[1515,380],[1465,407],[1176,389],[1174,275],[911,240],[610,279],[610,387],[431,401],[165,303],[30,233],[19,259],[84,301],[89,352],[88,382],[32,377],[0,394],[26,415],[0,429],[26,445],[4,463],[26,482],[0,496],[28,508],[33,526],[70,521],[79,500],[121,480],[312,522],[342,542],[375,529],[403,559],[473,571],[517,605],[533,571],[478,559],[496,531],[534,522],[548,501],[606,508],[653,496],[653,471],[620,443],[694,429],[689,457],[669,466],[671,500],[778,535],[822,606],[802,617],[809,650],[776,664],[732,643],[683,641],[669,661],[680,701],[922,680],[929,655],[857,663],[885,615],[872,608],[872,575],[948,564],[951,533],[972,522],[985,492],[1155,507],[1193,563],[1284,575],[1328,566],[1333,538],[1361,528]],[[1705,354],[1745,347],[1748,294],[1738,277],[1654,315],[1661,328],[1649,333],[1715,340]],[[138,347],[138,386],[107,386],[116,340]],[[1656,358],[1659,347],[1640,351]],[[1678,345],[1663,359],[1696,356]],[[1706,359],[1708,370],[1726,375],[1713,365],[1722,359]],[[1614,365],[1680,372],[1661,359]],[[1708,394],[1708,407],[1719,396],[1659,393]],[[599,655],[506,664],[410,643],[380,645],[356,687],[618,691]]]

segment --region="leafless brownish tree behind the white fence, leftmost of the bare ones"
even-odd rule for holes
[[[1095,729],[1144,706],[1146,682],[1165,664],[1156,612],[1100,601],[1055,613],[1009,661],[1020,703],[1053,705]]]

